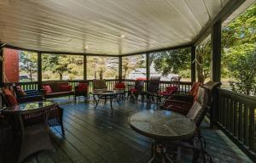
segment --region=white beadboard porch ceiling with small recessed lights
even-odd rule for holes
[[[189,44],[229,0],[0,0],[0,42],[126,54]]]

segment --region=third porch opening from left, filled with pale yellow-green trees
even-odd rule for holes
[[[87,79],[115,79],[119,75],[118,57],[87,56]]]

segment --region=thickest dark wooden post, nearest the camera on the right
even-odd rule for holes
[[[220,82],[221,78],[221,22],[212,25],[212,82]],[[218,114],[218,92],[212,93],[212,107],[210,110],[210,126],[216,123]]]

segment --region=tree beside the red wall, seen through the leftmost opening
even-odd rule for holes
[[[20,51],[20,70],[24,70],[30,81],[32,82],[32,75],[38,71],[38,55],[37,53]]]

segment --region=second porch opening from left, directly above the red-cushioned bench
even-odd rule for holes
[[[43,81],[84,79],[84,56],[42,54]]]

